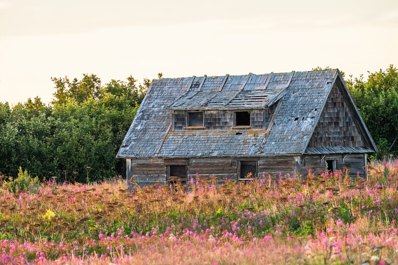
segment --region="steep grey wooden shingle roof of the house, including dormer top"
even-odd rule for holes
[[[360,116],[360,129],[369,138],[367,147],[346,150],[343,150],[344,147],[306,148],[336,79],[339,79],[340,85],[344,84],[338,70],[154,80],[117,157],[259,156],[376,151]],[[272,104],[278,106],[269,131],[240,131],[241,134],[236,134],[237,131],[233,130],[170,130],[172,110],[256,109],[267,108]],[[349,104],[353,104],[353,101]],[[355,106],[353,108],[357,111]]]

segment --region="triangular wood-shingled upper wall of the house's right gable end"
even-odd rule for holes
[[[319,110],[314,110],[314,115],[316,111]],[[364,146],[364,143],[353,116],[335,84],[326,101],[308,147],[340,146],[361,147]]]

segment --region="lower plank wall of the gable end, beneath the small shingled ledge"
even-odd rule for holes
[[[302,175],[308,175],[308,169],[313,166],[314,173],[320,174],[324,172],[325,160],[338,160],[337,169],[342,169],[343,166],[350,168],[349,175],[354,178],[359,176],[365,178],[366,172],[363,166],[365,166],[366,157],[365,154],[330,154],[330,155],[304,155],[301,159],[300,173]]]

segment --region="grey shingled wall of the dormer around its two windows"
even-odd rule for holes
[[[275,105],[275,104],[274,104]],[[231,131],[231,130],[264,130],[268,127],[274,107],[265,110],[250,110],[251,127],[232,128],[233,110],[205,110],[203,112],[204,128],[184,128],[186,126],[185,110],[174,110],[174,130],[175,131]],[[265,126],[264,123],[266,122]]]

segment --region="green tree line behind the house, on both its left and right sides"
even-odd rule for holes
[[[350,76],[345,82],[379,149],[369,157],[396,156],[398,71],[390,65],[368,74],[366,80]],[[0,175],[16,176],[20,167],[40,179],[56,176],[70,182],[125,174],[124,159],[115,156],[150,80],[137,85],[129,76],[102,85],[94,74],[51,80],[55,93],[50,104],[39,97],[15,106],[0,103]]]

